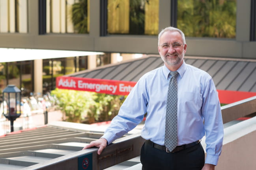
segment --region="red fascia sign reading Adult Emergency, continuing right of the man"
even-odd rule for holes
[[[128,95],[135,86],[136,82],[120,81],[120,80],[105,80],[105,79],[89,79],[80,77],[65,77],[56,78],[56,88],[93,91],[97,93],[106,93],[112,95]],[[230,104],[249,97],[256,96],[255,92],[245,91],[228,91],[217,90],[219,100],[222,104]]]

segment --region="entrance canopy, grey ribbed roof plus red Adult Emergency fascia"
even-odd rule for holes
[[[185,57],[185,62],[206,71],[213,77],[213,81],[219,92],[221,103],[229,104],[256,95],[256,60]],[[122,84],[122,81],[124,81],[123,83],[127,83],[125,86],[131,86],[132,88],[142,75],[159,66],[163,66],[161,57],[142,57],[136,60],[120,62],[118,64],[111,64],[93,70],[85,70],[71,75],[58,77],[56,87],[71,89],[70,87],[62,86],[61,84],[64,82],[68,84],[71,81],[78,84],[78,80],[80,80],[84,83],[91,83],[91,85],[86,85],[86,87],[96,87],[95,84],[104,85],[113,83],[119,83],[119,85],[117,85],[117,87],[119,87],[120,83]],[[61,84],[60,79],[62,79]],[[96,79],[98,82],[93,82],[93,79]],[[129,82],[131,82],[131,84],[129,84]],[[134,85],[132,86],[132,84]],[[110,87],[108,88],[110,89]],[[105,89],[107,89],[107,86],[105,86]],[[96,88],[94,88],[94,90],[88,90],[88,88],[77,88],[74,90],[97,92]],[[109,91],[101,92],[108,93]],[[116,92],[118,92],[118,90],[116,90],[115,93]],[[129,92],[127,92],[127,94],[128,93]]]

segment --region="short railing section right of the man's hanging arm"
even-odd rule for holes
[[[256,96],[221,107],[223,123],[256,113]]]

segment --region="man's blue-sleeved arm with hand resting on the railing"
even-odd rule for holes
[[[98,154],[101,154],[103,149],[106,148],[107,143],[110,144],[123,136],[143,120],[144,113],[146,113],[146,102],[142,93],[144,87],[144,81],[141,82],[139,80],[123,102],[118,115],[112,119],[110,126],[101,139],[92,141],[83,150],[95,146],[99,148]]]

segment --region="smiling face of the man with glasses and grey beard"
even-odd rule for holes
[[[166,31],[160,37],[158,51],[168,66],[181,66],[186,53],[187,44],[183,44],[182,37],[178,31]]]

